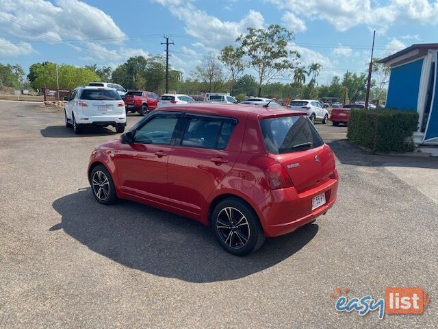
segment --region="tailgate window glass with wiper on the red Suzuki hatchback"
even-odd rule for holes
[[[263,143],[270,154],[285,154],[313,149],[324,144],[305,115],[261,120]]]

